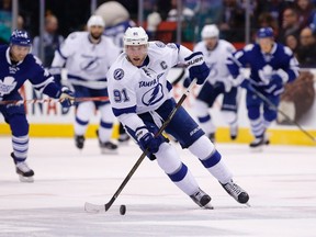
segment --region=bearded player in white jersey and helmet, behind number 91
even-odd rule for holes
[[[102,35],[105,23],[100,15],[92,15],[88,23],[88,32],[71,33],[55,53],[52,63],[52,74],[60,75],[61,68],[67,69],[69,83],[74,87],[76,97],[108,97],[106,72],[120,55],[121,49],[111,38]],[[84,134],[95,108],[101,114],[99,145],[103,154],[117,150],[111,135],[114,115],[110,101],[86,101],[78,103],[75,120],[75,143],[83,148]]]

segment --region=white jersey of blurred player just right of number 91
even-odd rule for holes
[[[216,47],[213,50],[207,50],[204,42],[199,42],[194,48],[194,52],[202,52],[204,60],[211,72],[207,80],[211,84],[216,81],[221,81],[225,84],[226,91],[232,88],[232,80],[229,79],[230,72],[227,68],[226,60],[234,52],[235,47],[227,41],[218,40]]]

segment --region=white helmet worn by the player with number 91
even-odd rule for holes
[[[126,45],[145,45],[148,44],[148,35],[143,27],[128,27],[125,31],[124,46]]]

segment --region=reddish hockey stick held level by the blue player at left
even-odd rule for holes
[[[83,102],[83,101],[108,101],[108,97],[87,97],[87,98],[75,98],[75,102]],[[49,102],[60,102],[60,99],[32,99],[32,100],[8,100],[0,101],[0,105],[12,104],[34,104],[34,103],[49,103]]]

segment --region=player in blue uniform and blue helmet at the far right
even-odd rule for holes
[[[250,147],[261,149],[269,144],[266,131],[278,112],[264,103],[258,92],[278,106],[284,84],[298,76],[298,63],[289,47],[274,42],[271,27],[262,27],[257,32],[257,43],[234,53],[227,66],[235,83],[247,90],[246,105],[255,136]],[[250,67],[249,78],[242,69],[247,66]]]

